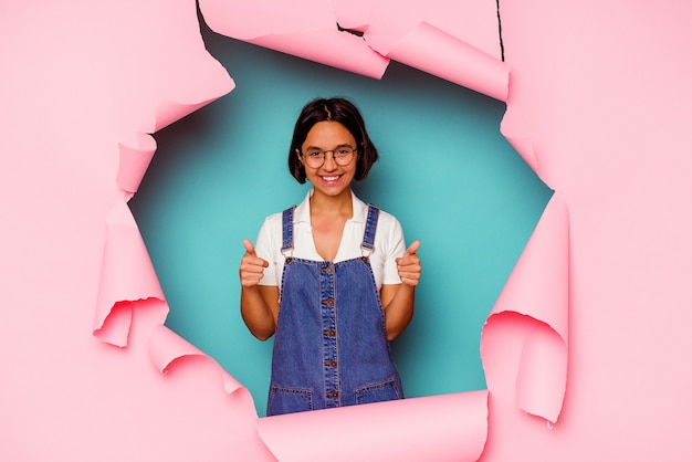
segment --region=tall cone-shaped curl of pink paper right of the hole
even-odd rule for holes
[[[502,367],[508,360],[505,356],[513,351],[499,353],[492,348],[496,345],[489,343],[497,342],[497,337],[490,333],[501,325],[520,326],[507,314],[525,317],[531,327],[521,327],[526,333],[515,377],[517,406],[552,423],[557,422],[562,411],[567,382],[568,231],[567,208],[559,195],[554,193],[481,336],[481,359],[489,390],[501,392],[491,379],[492,369]]]

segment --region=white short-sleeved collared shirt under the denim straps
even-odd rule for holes
[[[295,208],[293,212],[293,251],[291,256],[296,259],[324,261],[317,253],[315,241],[313,240],[312,225],[310,221],[310,198],[313,193],[311,189],[307,196]],[[344,235],[334,259],[334,263],[357,259],[363,256],[360,244],[365,233],[365,223],[368,216],[368,206],[350,193],[353,199],[354,216],[346,221]],[[258,256],[269,262],[269,267],[264,270],[264,276],[260,285],[275,285],[281,287],[281,277],[285,256],[281,253],[282,248],[282,213],[269,216],[258,235],[255,252]],[[382,284],[400,284],[397,272],[397,258],[406,252],[406,241],[401,224],[391,214],[380,210],[375,233],[375,249],[370,254],[370,266],[377,288]]]

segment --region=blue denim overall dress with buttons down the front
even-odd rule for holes
[[[293,210],[283,212],[285,256],[268,416],[403,398],[370,267],[379,209],[368,207],[363,256],[292,258]]]

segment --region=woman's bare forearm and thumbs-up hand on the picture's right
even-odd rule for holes
[[[401,335],[413,317],[416,286],[421,271],[420,259],[416,254],[419,246],[419,241],[413,242],[403,256],[397,259],[401,284],[382,284],[380,288],[388,340],[394,340]]]

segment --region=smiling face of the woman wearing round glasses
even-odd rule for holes
[[[300,158],[305,168],[305,176],[315,188],[315,192],[339,196],[349,191],[350,181],[356,175],[358,153],[354,153],[353,160],[348,165],[339,166],[334,159],[333,151],[337,148],[357,148],[356,138],[338,122],[318,122],[307,133],[301,146],[303,156]],[[311,151],[326,151],[321,167],[313,168],[305,161],[305,155]]]

